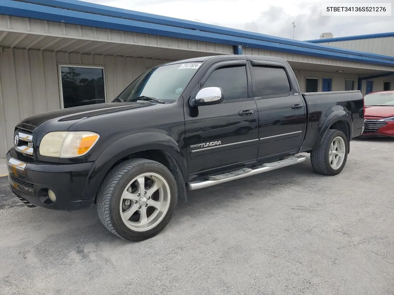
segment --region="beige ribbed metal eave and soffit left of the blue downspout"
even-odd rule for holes
[[[232,54],[233,47],[226,44],[160,37],[134,32],[107,30],[72,24],[47,22],[29,18],[0,15],[0,31],[5,35],[1,45],[9,48],[26,48],[55,52],[78,52],[105,55],[130,55],[152,57],[158,49],[189,51],[198,56]],[[1,36],[1,34],[0,34]],[[160,51],[159,51],[160,53]],[[204,54],[199,54],[204,53]]]

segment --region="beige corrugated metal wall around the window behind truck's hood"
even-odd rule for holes
[[[13,146],[14,127],[20,120],[60,108],[59,64],[103,66],[106,98],[111,101],[147,68],[166,62],[168,60],[3,49],[0,53],[0,158]]]

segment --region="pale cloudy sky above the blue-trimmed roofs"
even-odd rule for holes
[[[319,39],[394,31],[392,16],[322,16],[322,3],[392,3],[394,0],[91,0],[89,2],[134,11],[194,20],[296,40]]]

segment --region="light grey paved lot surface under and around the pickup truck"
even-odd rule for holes
[[[132,243],[95,206],[27,208],[0,179],[0,294],[394,294],[394,140],[337,176],[301,164],[197,190]]]

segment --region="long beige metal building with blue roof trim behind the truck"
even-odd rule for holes
[[[394,57],[378,53],[76,0],[28,2],[0,2],[0,158],[13,146],[14,126],[23,118],[112,101],[139,74],[167,61],[220,54],[282,57],[305,92],[365,93],[364,77],[374,91],[383,90],[379,75],[394,73]]]

